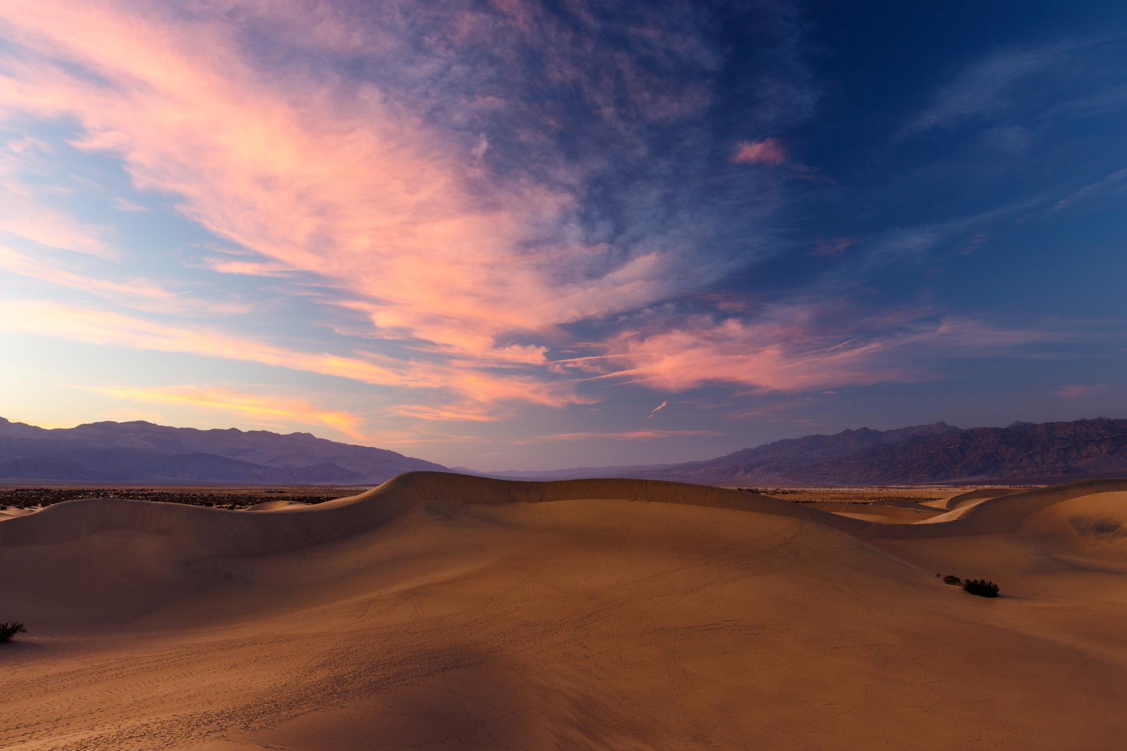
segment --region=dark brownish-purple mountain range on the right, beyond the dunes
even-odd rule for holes
[[[523,480],[641,477],[711,485],[1065,482],[1127,475],[1127,420],[1014,422],[964,430],[946,422],[788,438],[683,464],[504,472]]]

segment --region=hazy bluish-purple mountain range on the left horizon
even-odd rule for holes
[[[378,484],[433,462],[308,432],[91,422],[47,430],[0,418],[0,479],[69,482]]]

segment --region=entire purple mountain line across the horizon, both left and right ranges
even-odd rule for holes
[[[1127,420],[1014,422],[964,430],[946,422],[843,430],[683,464],[476,472],[369,446],[279,435],[92,422],[47,430],[0,418],[0,479],[64,482],[378,484],[402,472],[511,480],[640,477],[706,485],[1065,482],[1127,476]]]

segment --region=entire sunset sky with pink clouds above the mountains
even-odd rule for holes
[[[1127,5],[7,0],[0,415],[447,466],[1127,417]]]

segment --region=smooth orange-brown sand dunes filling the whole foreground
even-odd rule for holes
[[[411,473],[318,507],[52,506],[0,521],[0,620],[29,628],[0,746],[1121,748],[1127,481],[970,500],[881,522]]]

